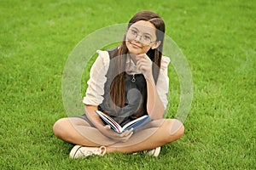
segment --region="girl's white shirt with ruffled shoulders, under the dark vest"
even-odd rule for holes
[[[90,79],[88,80],[88,88],[86,90],[83,103],[85,105],[100,105],[103,101],[104,85],[107,82],[107,71],[109,66],[109,54],[108,51],[97,50],[99,54],[96,61],[90,69]],[[156,82],[156,90],[160,96],[160,99],[166,109],[168,104],[167,94],[169,91],[169,77],[168,77],[168,65],[170,59],[166,56],[162,56],[160,75]],[[141,74],[141,71],[137,70],[137,66],[130,59],[129,55],[126,60],[126,70],[131,71],[129,74]]]

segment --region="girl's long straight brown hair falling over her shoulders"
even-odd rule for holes
[[[164,42],[164,34],[165,34],[165,23],[160,18],[158,14],[155,14],[151,11],[142,11],[137,14],[135,14],[131,20],[129,21],[127,30],[130,28],[130,26],[134,23],[136,23],[139,20],[145,20],[152,23],[156,28],[156,37],[157,41],[160,41],[160,46],[158,48],[152,49],[150,48],[148,50],[148,57],[153,61],[153,77],[154,82],[157,82],[159,71],[160,71],[160,63],[162,58],[162,49],[163,49],[163,42]],[[119,48],[117,49],[116,56],[113,56],[116,60],[113,65],[110,65],[109,69],[110,71],[120,73],[116,76],[111,78],[112,82],[110,85],[110,96],[113,101],[112,109],[114,111],[119,110],[118,108],[122,108],[125,105],[125,62],[127,59],[128,54],[128,48],[126,47],[124,37],[123,42],[121,42]]]

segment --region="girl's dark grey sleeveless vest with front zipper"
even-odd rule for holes
[[[109,105],[113,103],[110,97],[110,85],[112,82],[111,66],[114,63],[114,57],[117,56],[118,49],[113,48],[108,50],[110,63],[106,74],[107,82],[104,85],[104,94],[102,104],[99,105],[99,111],[102,111],[108,116],[111,116],[121,126],[127,122],[143,116],[147,113],[147,84],[143,74],[129,75],[125,72],[125,106],[119,108],[119,111],[113,110]],[[135,78],[135,81],[132,79]]]

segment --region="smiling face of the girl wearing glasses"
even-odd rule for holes
[[[155,27],[149,21],[139,20],[126,31],[126,46],[131,54],[146,54],[156,45]]]

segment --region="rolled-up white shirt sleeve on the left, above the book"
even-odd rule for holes
[[[85,105],[102,104],[104,94],[104,85],[107,81],[107,71],[109,66],[109,54],[107,51],[97,50],[98,57],[91,66],[88,88],[83,99]]]

